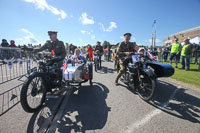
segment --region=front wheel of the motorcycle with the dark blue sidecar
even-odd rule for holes
[[[156,88],[156,79],[144,75],[144,77],[141,78],[141,81],[139,81],[139,85],[137,86],[138,95],[144,101],[149,101],[154,96],[155,88]]]

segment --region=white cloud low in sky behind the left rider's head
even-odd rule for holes
[[[22,37],[22,38],[17,38],[16,41],[20,41],[21,44],[39,44],[41,43],[35,36],[33,33],[31,33],[29,30],[22,28],[20,29],[21,32],[26,33],[26,36]]]

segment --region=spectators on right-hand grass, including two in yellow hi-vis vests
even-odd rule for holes
[[[183,43],[180,43],[178,38],[175,38],[172,44],[158,47],[152,52],[157,56],[157,61],[167,62],[172,64],[175,60],[175,68],[178,68],[178,63],[181,63],[181,69],[186,71],[190,70],[190,64],[199,64],[200,70],[200,45],[190,43],[190,39],[185,39]]]

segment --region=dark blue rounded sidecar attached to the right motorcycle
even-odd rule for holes
[[[148,66],[151,66],[154,69],[156,76],[159,77],[170,77],[174,74],[174,68],[165,63],[160,62],[149,62]]]

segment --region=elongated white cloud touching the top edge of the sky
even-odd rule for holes
[[[59,15],[60,16],[59,20],[65,19],[67,17],[67,14],[63,10],[58,10],[57,8],[51,5],[48,5],[46,0],[24,0],[24,1],[33,3],[37,9],[40,9],[42,11],[47,9],[55,15]]]

